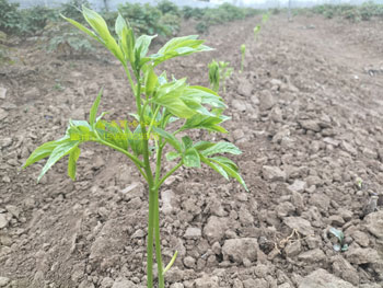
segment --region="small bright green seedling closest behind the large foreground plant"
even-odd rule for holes
[[[212,60],[209,67],[209,81],[213,91],[219,92],[220,83],[222,82],[223,92],[227,92],[227,79],[231,77],[234,69],[229,67],[230,62]]]

